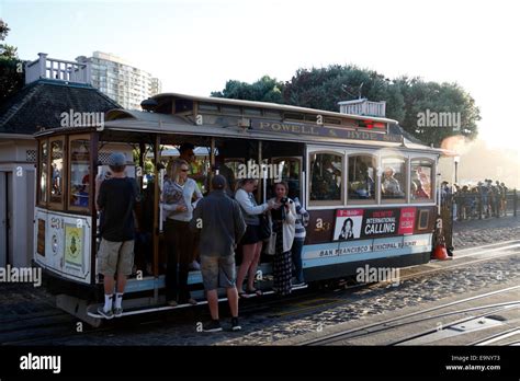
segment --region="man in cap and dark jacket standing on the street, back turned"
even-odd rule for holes
[[[246,222],[238,203],[227,196],[225,187],[226,178],[222,175],[214,176],[213,190],[199,201],[190,222],[193,231],[201,231],[201,272],[212,315],[212,321],[203,326],[204,332],[222,331],[218,320],[219,286],[226,288],[233,316],[231,330],[240,331],[235,247],[246,232]]]

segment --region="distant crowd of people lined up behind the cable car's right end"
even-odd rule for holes
[[[442,199],[452,198],[453,219],[459,221],[507,216],[507,194],[505,183],[489,178],[476,185],[443,182],[441,186]]]

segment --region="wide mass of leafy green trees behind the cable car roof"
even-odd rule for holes
[[[298,69],[293,78],[278,82],[264,76],[249,84],[227,81],[222,92],[212,96],[291,104],[337,112],[340,101],[360,97],[386,102],[386,117],[399,124],[426,145],[440,146],[452,135],[475,138],[481,119],[475,100],[456,83],[425,82],[420,78],[400,77],[394,80],[353,65],[331,65],[327,68]],[[460,113],[461,128],[418,128],[419,113]]]

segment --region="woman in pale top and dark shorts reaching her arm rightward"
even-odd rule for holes
[[[270,200],[269,203],[257,205],[252,192],[258,187],[258,180],[244,178],[238,183],[238,189],[235,193],[235,200],[240,205],[244,220],[247,229],[240,243],[242,245],[242,263],[238,269],[237,289],[241,298],[248,295],[261,295],[260,290],[255,288],[255,277],[257,275],[258,262],[262,251],[262,231],[260,229],[260,215],[273,207],[280,206]],[[247,289],[244,291],[242,284],[248,275]]]

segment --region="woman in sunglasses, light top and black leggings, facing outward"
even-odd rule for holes
[[[193,209],[202,198],[195,181],[188,177],[190,166],[184,160],[174,160],[168,168],[169,178],[162,187],[162,208],[166,215],[165,236],[168,250],[166,299],[168,304],[196,304],[188,289],[189,266],[194,259],[194,235],[190,230]],[[195,201],[192,203],[195,196]],[[179,276],[177,267],[179,265]]]

